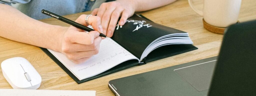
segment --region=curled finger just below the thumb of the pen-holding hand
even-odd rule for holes
[[[101,37],[97,37],[94,39],[93,44],[91,45],[83,45],[78,43],[73,43],[69,45],[62,46],[62,51],[67,52],[79,52],[79,51],[90,51],[97,49],[98,45],[100,45]]]

